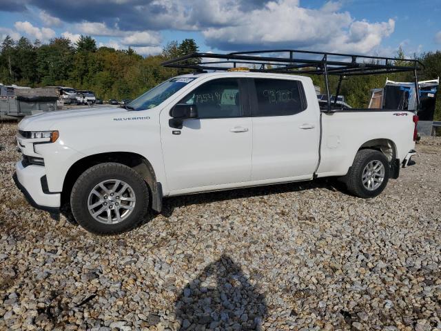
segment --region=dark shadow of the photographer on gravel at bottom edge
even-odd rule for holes
[[[175,308],[180,330],[262,330],[267,315],[265,297],[227,255],[185,286]]]

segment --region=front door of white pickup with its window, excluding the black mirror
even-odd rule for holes
[[[172,194],[216,190],[249,181],[252,120],[243,81],[207,81],[178,103],[196,105],[197,119],[170,128],[170,110],[161,112],[161,139],[167,184]]]

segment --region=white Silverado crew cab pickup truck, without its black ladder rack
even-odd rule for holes
[[[99,234],[133,228],[178,194],[339,177],[369,198],[415,154],[416,121],[402,110],[322,112],[309,77],[184,74],[125,108],[23,119],[14,178],[32,205],[70,201]]]

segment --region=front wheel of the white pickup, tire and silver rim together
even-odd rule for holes
[[[70,205],[76,221],[96,234],[131,230],[147,213],[149,192],[141,175],[121,163],[101,163],[76,180]]]

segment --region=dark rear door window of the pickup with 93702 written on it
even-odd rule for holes
[[[254,79],[254,86],[254,117],[294,115],[306,109],[305,92],[300,81]]]

